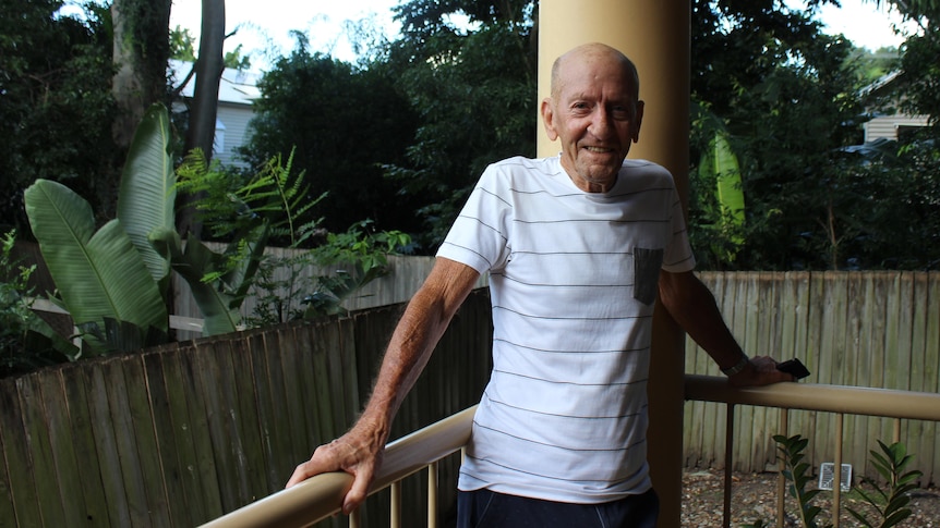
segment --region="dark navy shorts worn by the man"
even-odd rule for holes
[[[457,528],[655,528],[653,490],[603,504],[569,504],[490,490],[457,494]]]

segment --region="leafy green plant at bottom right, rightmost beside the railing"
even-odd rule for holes
[[[887,482],[887,488],[883,488],[875,479],[863,477],[861,481],[869,484],[873,492],[860,489],[856,489],[856,491],[878,513],[880,523],[869,520],[863,512],[851,507],[847,509],[853,517],[861,523],[861,526],[890,528],[911,516],[912,512],[906,507],[911,503],[911,491],[917,488],[916,481],[924,474],[918,470],[904,470],[913,458],[912,455],[907,454],[904,444],[895,442],[891,445],[884,445],[883,442],[879,441],[878,445],[881,447],[881,453],[870,451],[871,464]]]

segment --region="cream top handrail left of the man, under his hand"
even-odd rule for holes
[[[388,444],[369,493],[381,491],[460,450],[470,439],[470,407]],[[203,525],[206,528],[304,527],[340,511],[352,477],[330,472],[308,479]]]

